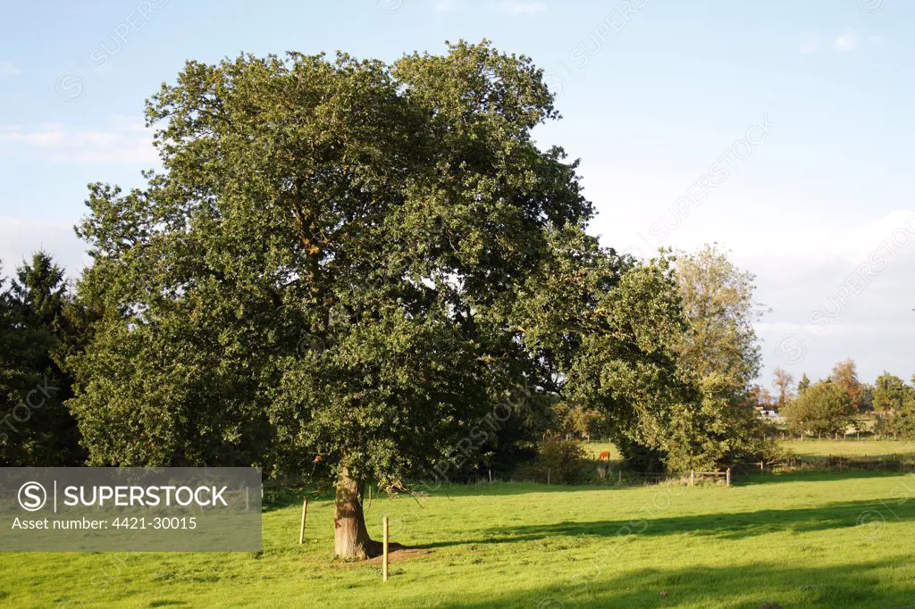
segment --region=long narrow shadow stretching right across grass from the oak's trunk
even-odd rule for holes
[[[860,527],[863,539],[873,539],[887,523],[915,520],[915,501],[899,504],[898,499],[830,503],[816,508],[760,509],[732,514],[701,514],[672,518],[653,518],[662,506],[646,504],[644,510],[629,520],[593,520],[554,524],[482,529],[485,539],[440,541],[414,545],[414,548],[436,548],[481,543],[514,543],[555,537],[619,537],[620,542],[633,535],[709,536],[722,540],[743,540],[769,533],[789,531],[805,533],[827,529]]]

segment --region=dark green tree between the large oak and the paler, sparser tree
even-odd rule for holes
[[[698,399],[677,370],[685,323],[669,259],[637,263],[584,235],[551,251],[520,299],[525,344],[551,362],[566,411],[601,412],[627,461],[660,464],[676,448],[670,419]]]

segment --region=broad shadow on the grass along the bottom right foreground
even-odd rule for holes
[[[658,557],[662,563],[663,557]],[[848,562],[805,568],[761,562],[733,567],[623,570],[619,561],[582,561],[558,585],[462,595],[444,607],[888,607],[915,606],[915,567],[907,561]],[[485,597],[484,597],[485,596]],[[436,605],[439,606],[439,605]]]

